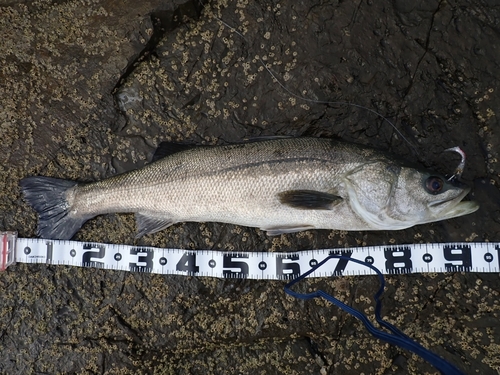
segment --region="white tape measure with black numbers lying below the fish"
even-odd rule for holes
[[[292,253],[160,249],[147,246],[17,238],[0,232],[0,270],[10,264],[44,263],[157,273],[281,280],[295,278],[330,254],[372,264],[385,274],[423,272],[500,272],[500,243],[433,243],[306,250]],[[374,274],[335,260],[310,277]]]

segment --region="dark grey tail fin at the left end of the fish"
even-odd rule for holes
[[[68,240],[90,219],[75,217],[66,192],[76,182],[52,177],[34,176],[21,180],[19,185],[25,200],[38,212],[38,236]]]

